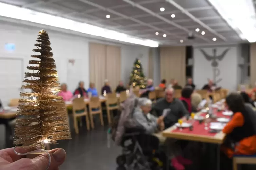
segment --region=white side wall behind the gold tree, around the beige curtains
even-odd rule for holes
[[[0,21],[0,57],[22,58],[24,61],[23,72],[28,71],[26,67],[31,59],[30,55],[33,54],[32,49],[35,48],[35,40],[40,29],[42,28]],[[136,58],[140,58],[144,73],[146,76],[148,75],[149,47],[112,43],[49,29],[46,30],[50,36],[60,82],[66,82],[72,88],[76,87],[78,81],[84,81],[86,88],[89,86],[89,42],[121,46],[121,77],[126,83],[129,80],[133,62]],[[16,49],[14,51],[7,51],[5,49],[6,43],[15,44]],[[67,82],[68,59],[75,59],[80,64],[81,76],[73,75],[75,77],[74,80],[76,80],[73,82]],[[14,67],[13,69],[16,68]]]

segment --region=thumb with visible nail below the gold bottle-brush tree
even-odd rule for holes
[[[49,151],[51,156],[51,163],[48,170],[55,170],[65,161],[66,152],[64,149],[57,148]],[[31,159],[31,166],[35,167],[35,170],[46,170],[49,164],[48,154],[42,154],[34,159]]]

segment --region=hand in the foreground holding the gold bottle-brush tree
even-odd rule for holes
[[[27,153],[27,148],[15,148],[16,152]],[[48,170],[58,170],[58,167],[65,161],[66,152],[64,149],[53,149],[49,151],[51,164]],[[6,170],[46,170],[48,166],[48,155],[42,154],[34,159],[16,155],[13,148],[0,150],[0,169]]]

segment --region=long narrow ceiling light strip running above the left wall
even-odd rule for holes
[[[159,45],[157,41],[135,38],[124,33],[119,33],[117,31],[108,30],[98,26],[76,22],[70,19],[40,13],[5,3],[0,3],[0,16],[69,29],[80,33],[124,41],[132,44],[139,44],[149,47],[158,47]]]

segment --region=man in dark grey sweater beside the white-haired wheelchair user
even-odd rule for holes
[[[166,115],[162,115],[163,111],[168,109]],[[157,100],[151,109],[151,113],[157,115],[161,120],[164,121],[165,128],[168,128],[178,122],[178,119],[187,121],[189,118],[189,112],[184,107],[182,102],[174,98],[174,89],[167,88],[165,90],[165,97]]]

